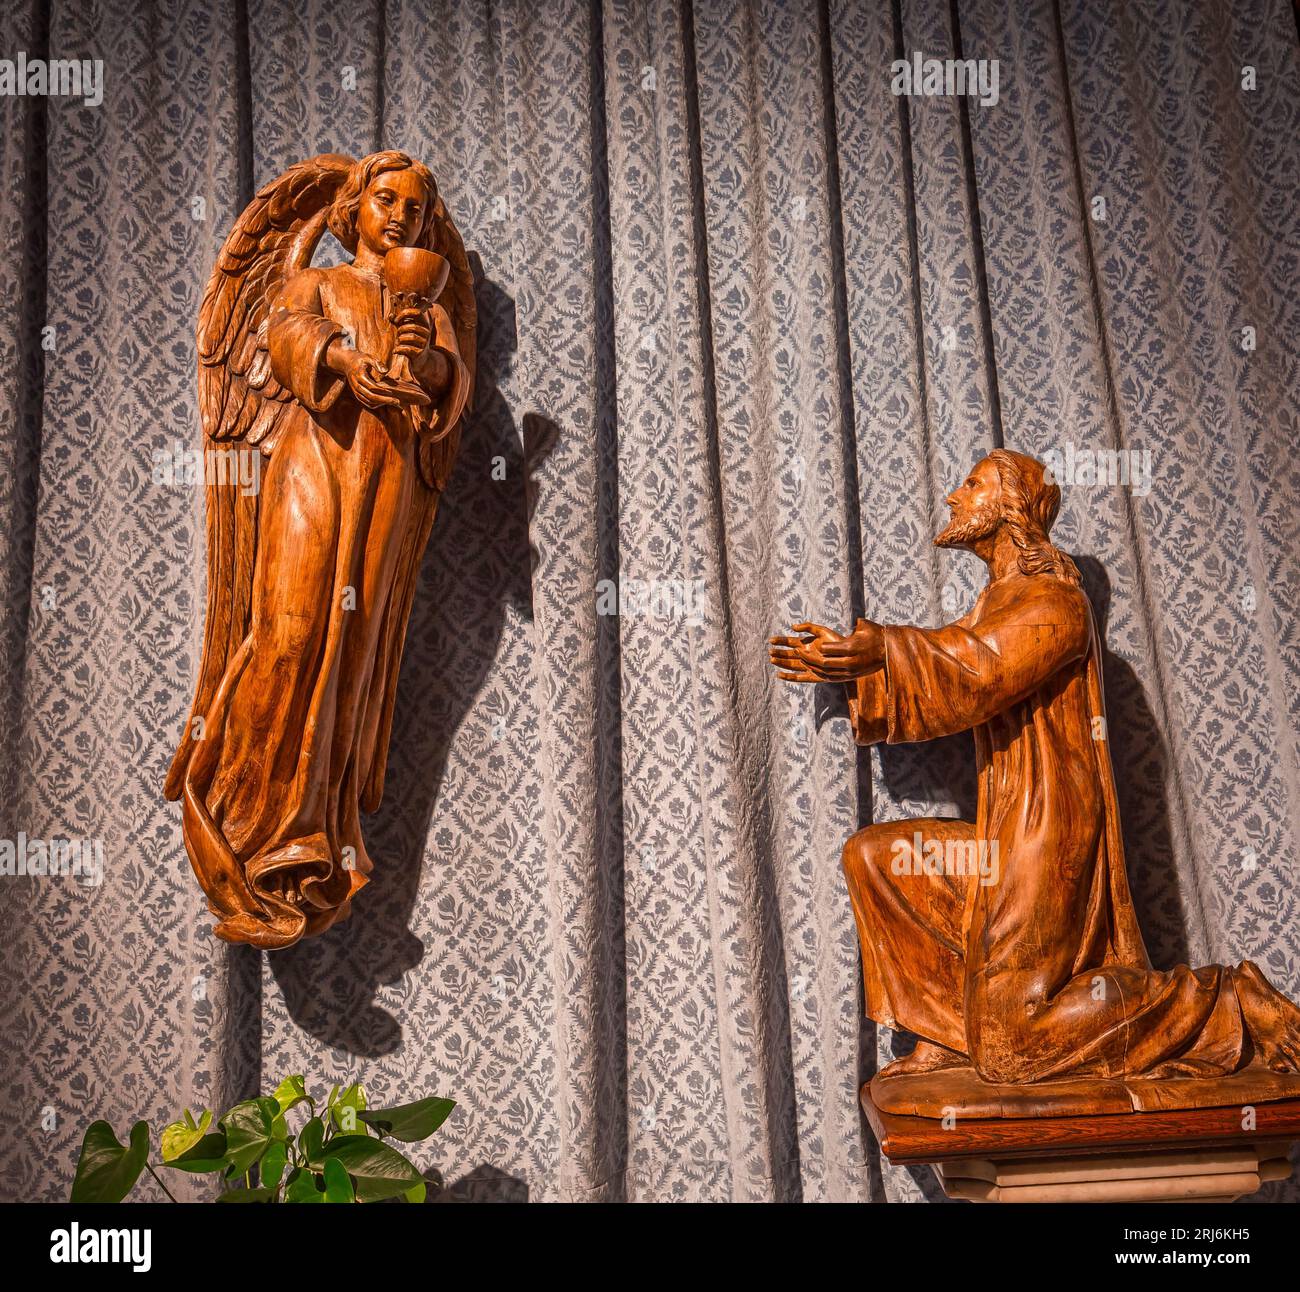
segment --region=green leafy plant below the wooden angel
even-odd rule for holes
[[[302,1106],[296,1132],[286,1120]],[[455,1107],[426,1098],[369,1109],[361,1087],[334,1087],[325,1106],[307,1093],[302,1076],[286,1076],[273,1094],[237,1104],[212,1128],[204,1109],[188,1109],[159,1137],[162,1161],[150,1162],[147,1122],[131,1127],[124,1145],[108,1122],[94,1122],[82,1140],[73,1202],[121,1202],[144,1171],[174,1202],[155,1166],[191,1174],[220,1174],[218,1202],[422,1202],[424,1176],[389,1143],[426,1140]],[[302,1114],[299,1114],[300,1117]],[[296,1119],[296,1118],[295,1118]]]

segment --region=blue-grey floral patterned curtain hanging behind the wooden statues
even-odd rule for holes
[[[1286,0],[10,0],[16,51],[101,58],[104,97],[0,97],[0,837],[100,840],[104,877],[0,877],[6,1197],[66,1196],[96,1117],[295,1071],[458,1100],[420,1161],[469,1196],[932,1197],[858,1109],[900,1039],[838,854],[970,811],[972,749],[859,751],[763,643],[965,610],[930,539],[998,445],[1149,451],[1057,526],[1135,899],[1157,964],[1300,996]],[[894,95],[916,52],[997,60],[997,101]],[[260,955],[161,795],[204,537],[156,464],[254,188],[381,146],[481,260],[480,393],[374,880]]]

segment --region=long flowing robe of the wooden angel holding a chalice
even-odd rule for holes
[[[346,335],[385,361],[395,341],[386,313],[381,281],[351,265],[308,269],[285,285],[265,343],[294,403],[255,500],[255,552],[240,538],[248,517],[216,510],[209,494],[209,528],[234,530],[217,533],[214,546],[237,568],[237,585],[240,563],[252,564],[251,580],[243,575],[251,606],[240,615],[237,586],[237,604],[222,614],[247,621],[247,633],[229,650],[212,647],[209,629],[195,702],[202,730],[187,733],[169,789],[181,790],[186,847],[218,918],[214,932],[229,941],[280,948],[318,933],[348,914],[370,871],[359,811],[382,795],[402,643],[438,494],[417,461],[428,413],[361,407],[325,352]],[[433,425],[445,430],[465,404],[468,374],[446,312],[434,307],[430,322],[450,370],[430,391]],[[442,441],[433,459],[454,450],[454,438]]]

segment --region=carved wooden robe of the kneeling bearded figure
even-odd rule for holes
[[[1254,964],[1150,966],[1080,589],[1013,573],[957,623],[884,643],[849,686],[858,741],[974,729],[979,801],[974,823],[893,821],[845,846],[867,1014],[997,1083],[1296,1071],[1300,1010]]]

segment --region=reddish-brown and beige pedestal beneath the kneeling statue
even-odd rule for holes
[[[972,1202],[1231,1201],[1291,1175],[1300,1100],[1242,1109],[1095,1117],[939,1118],[862,1107],[890,1162],[935,1167],[949,1197]]]

